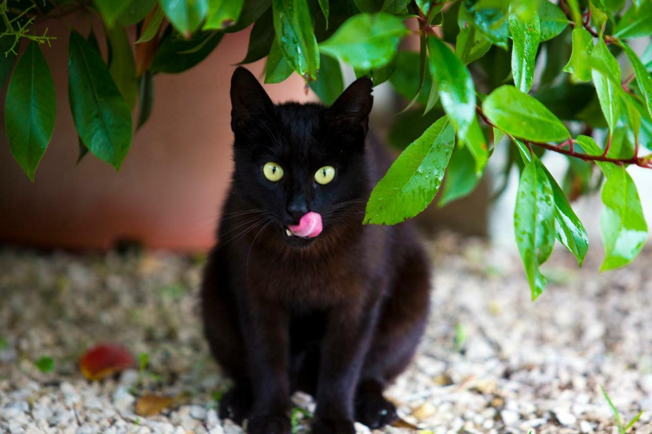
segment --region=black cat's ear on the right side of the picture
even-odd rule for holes
[[[374,105],[373,83],[368,77],[353,81],[329,108],[327,117],[334,127],[369,129],[369,113]]]

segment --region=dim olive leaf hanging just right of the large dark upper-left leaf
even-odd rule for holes
[[[111,65],[109,72],[117,85],[126,105],[134,109],[136,94],[138,94],[138,83],[136,81],[136,64],[134,54],[131,51],[131,43],[126,36],[125,27],[116,25],[108,29],[108,38],[111,44]]]

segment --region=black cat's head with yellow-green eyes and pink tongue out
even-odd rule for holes
[[[233,189],[289,244],[309,245],[366,199],[371,92],[371,80],[360,78],[331,107],[273,104],[248,70],[233,73]]]

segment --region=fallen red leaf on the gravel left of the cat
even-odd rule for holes
[[[102,343],[91,347],[83,353],[79,366],[88,380],[100,380],[116,372],[135,366],[131,353],[115,343]]]

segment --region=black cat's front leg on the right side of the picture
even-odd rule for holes
[[[313,434],[355,434],[355,389],[369,347],[376,306],[339,306],[329,312],[321,344]]]

